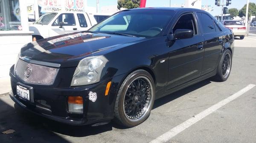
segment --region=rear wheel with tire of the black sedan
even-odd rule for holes
[[[226,62],[229,62],[229,63],[224,62],[224,60],[226,60]],[[215,75],[214,79],[218,81],[226,81],[230,76],[231,67],[232,67],[232,53],[230,50],[227,49],[224,51],[224,53],[221,56],[220,62],[218,63],[218,67],[217,67],[217,74]]]

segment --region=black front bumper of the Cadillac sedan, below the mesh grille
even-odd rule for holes
[[[58,87],[55,85],[60,84],[40,86],[23,83],[13,74],[13,67],[10,70],[10,76],[12,91],[9,95],[17,105],[45,118],[71,125],[85,125],[113,119],[117,89],[122,80],[122,75],[119,75],[86,86]],[[106,96],[105,89],[109,81],[112,81],[112,84],[109,94]],[[29,101],[23,100],[16,95],[17,84],[23,87],[32,87],[32,94]],[[90,91],[97,94],[95,102],[89,100]],[[68,96],[83,97],[83,114],[74,114],[68,111]]]

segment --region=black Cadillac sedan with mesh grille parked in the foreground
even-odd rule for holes
[[[79,23],[77,23],[79,24]],[[230,75],[234,36],[206,11],[137,8],[89,31],[31,42],[10,69],[10,97],[72,125],[136,126],[154,100]]]

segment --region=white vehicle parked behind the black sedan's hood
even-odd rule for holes
[[[29,31],[33,31],[33,39],[43,39],[61,34],[85,31],[97,24],[90,20],[87,13],[84,12],[50,12],[39,17],[32,25],[29,25]]]

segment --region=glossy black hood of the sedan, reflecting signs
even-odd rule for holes
[[[76,32],[28,43],[21,48],[20,57],[33,61],[60,64],[60,67],[76,67],[87,56],[132,45],[145,38],[113,34]]]

